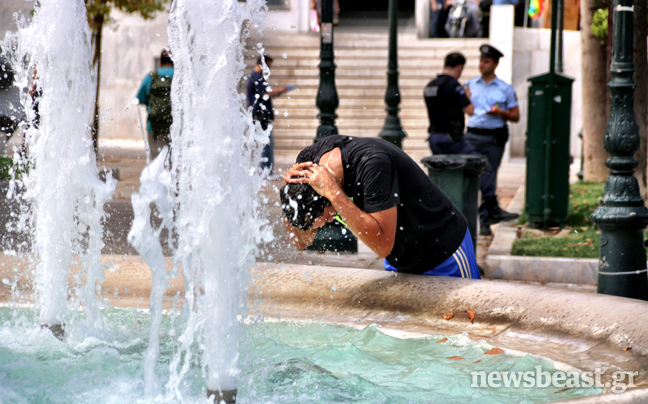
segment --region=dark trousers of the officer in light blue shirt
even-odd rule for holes
[[[497,206],[497,170],[502,162],[504,146],[495,144],[492,135],[476,135],[468,132],[464,135],[466,143],[488,159],[489,170],[479,179],[479,189],[482,193],[482,204],[479,213],[482,218],[487,211]]]

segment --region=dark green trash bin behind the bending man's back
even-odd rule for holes
[[[437,154],[425,157],[421,162],[428,168],[432,182],[468,219],[468,229],[477,250],[479,177],[486,172],[488,159],[470,154]]]

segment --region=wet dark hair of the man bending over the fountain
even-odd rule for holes
[[[286,220],[300,230],[310,230],[331,202],[308,184],[286,184],[279,191],[281,210]]]

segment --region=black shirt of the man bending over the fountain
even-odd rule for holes
[[[319,163],[340,148],[344,192],[367,213],[397,207],[394,248],[387,261],[399,272],[421,274],[461,245],[468,222],[405,152],[378,138],[329,136],[302,150],[297,162]]]

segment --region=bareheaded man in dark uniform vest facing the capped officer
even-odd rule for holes
[[[430,119],[428,132],[430,149],[434,154],[475,154],[475,148],[463,139],[464,114],[472,115],[475,107],[457,81],[466,58],[459,52],[445,57],[443,71],[423,90]]]

